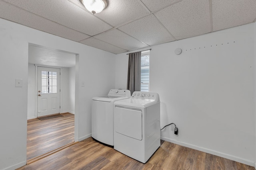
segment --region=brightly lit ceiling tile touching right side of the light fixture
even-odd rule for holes
[[[95,15],[114,27],[148,14],[138,0],[108,0],[108,2],[107,8]]]

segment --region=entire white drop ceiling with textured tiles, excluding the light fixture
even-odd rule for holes
[[[256,0],[0,0],[0,18],[116,54],[255,22]]]

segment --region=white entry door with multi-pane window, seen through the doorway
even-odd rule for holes
[[[60,113],[60,68],[38,66],[37,117]]]

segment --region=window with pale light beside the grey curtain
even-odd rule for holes
[[[149,91],[149,52],[150,52],[150,50],[141,52],[140,91],[142,91],[142,92]]]

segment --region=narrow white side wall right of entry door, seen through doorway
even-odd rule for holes
[[[68,69],[69,75],[69,113],[75,113],[75,75],[76,75],[76,67],[71,67]]]

